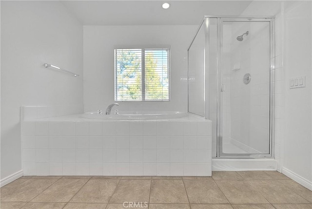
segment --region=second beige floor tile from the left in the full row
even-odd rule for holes
[[[31,202],[68,202],[88,179],[59,179]]]

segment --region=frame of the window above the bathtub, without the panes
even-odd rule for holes
[[[141,99],[140,100],[118,100],[117,94],[117,50],[119,49],[136,49],[141,50]],[[167,66],[168,66],[168,99],[163,100],[145,100],[145,51],[146,50],[167,50]],[[168,102],[171,100],[171,48],[170,45],[164,46],[116,46],[114,47],[114,100],[117,102]],[[142,79],[144,78],[144,79]]]

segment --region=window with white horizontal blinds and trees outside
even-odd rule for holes
[[[169,101],[169,49],[115,49],[115,101]]]

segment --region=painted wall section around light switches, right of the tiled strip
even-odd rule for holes
[[[284,169],[312,184],[312,2],[285,2]],[[306,87],[289,89],[291,78],[306,76]],[[310,187],[312,189],[312,186]]]

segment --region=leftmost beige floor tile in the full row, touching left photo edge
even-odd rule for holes
[[[18,179],[19,180],[19,179]],[[24,179],[22,179],[24,180]],[[1,202],[29,202],[58,179],[26,179],[1,188]]]

